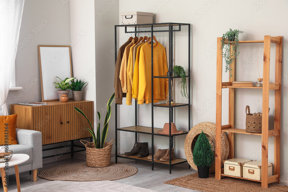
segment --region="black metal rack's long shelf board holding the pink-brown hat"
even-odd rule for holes
[[[152,128],[151,127],[143,127],[143,126],[131,126],[131,127],[124,127],[124,128],[118,128],[119,131],[127,131],[127,132],[134,132],[134,133],[143,133],[143,134],[152,134]],[[160,131],[163,129],[160,128],[154,128],[154,135],[169,137],[169,135],[159,134],[157,131]],[[174,134],[171,135],[172,137],[178,136],[178,135],[185,135],[187,134],[187,131],[183,131],[181,134]]]

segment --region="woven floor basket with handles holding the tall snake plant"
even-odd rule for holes
[[[114,141],[113,141],[114,140]],[[110,142],[104,143],[104,148],[96,149],[94,142],[88,142],[84,144],[86,147],[86,165],[88,167],[108,167],[111,164],[111,149],[112,145],[115,142],[115,139],[112,139]],[[113,141],[113,143],[112,143]]]

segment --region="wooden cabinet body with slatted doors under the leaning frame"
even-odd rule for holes
[[[90,137],[90,128],[81,109],[93,125],[93,101],[50,101],[43,106],[11,105],[11,114],[18,114],[16,128],[42,132],[42,145]]]

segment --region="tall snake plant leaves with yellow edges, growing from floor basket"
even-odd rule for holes
[[[114,97],[115,97],[115,93],[113,93],[113,95],[110,97],[110,99],[107,102],[107,113],[106,113],[106,116],[105,116],[104,126],[103,126],[101,137],[100,137],[101,114],[97,111],[98,117],[99,117],[99,123],[98,123],[96,134],[95,134],[93,126],[92,126],[91,122],[89,121],[89,119],[86,117],[86,115],[80,109],[78,109],[77,107],[74,107],[74,109],[78,113],[82,114],[87,119],[87,121],[89,122],[91,129],[89,129],[87,127],[86,127],[86,129],[91,133],[91,135],[92,135],[92,137],[94,139],[94,143],[95,143],[95,148],[96,149],[101,149],[101,148],[104,147],[105,139],[106,139],[107,132],[108,132],[108,126],[109,126],[108,121],[109,121],[109,119],[111,117],[111,103],[114,100]]]

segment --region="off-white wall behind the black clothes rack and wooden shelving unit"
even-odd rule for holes
[[[287,26],[283,23],[287,20],[286,14],[287,1],[277,1],[277,9],[271,9],[274,7],[274,1],[218,1],[218,0],[205,0],[205,1],[173,1],[173,0],[147,0],[145,3],[132,0],[120,0],[119,12],[129,11],[141,11],[141,12],[153,12],[154,23],[160,22],[182,22],[191,23],[192,25],[192,126],[197,123],[210,121],[215,123],[216,112],[216,43],[217,37],[221,37],[223,33],[229,30],[229,28],[239,29],[245,33],[240,34],[239,40],[263,40],[264,35],[271,36],[283,36],[283,81],[282,81],[282,115],[281,115],[281,180],[288,181],[288,155],[285,153],[288,146],[288,120],[285,118],[288,113],[287,103],[287,91],[288,91],[288,68],[285,65],[287,59]],[[112,28],[112,26],[111,26]],[[184,29],[185,31],[185,29]],[[182,52],[186,51],[186,42],[184,35],[179,35],[179,41],[175,45],[175,64],[182,65],[187,70],[186,56],[184,57]],[[124,32],[120,32],[120,40],[126,39],[130,34],[125,35]],[[163,45],[166,45],[166,39],[164,35],[155,34],[157,39]],[[186,40],[187,41],[187,40]],[[257,81],[258,69],[257,62],[259,64],[260,73],[263,71],[263,44],[241,44],[240,56],[236,61],[236,80],[238,81]],[[259,52],[260,56],[257,56]],[[187,53],[187,52],[186,52]],[[256,56],[255,56],[256,55]],[[254,61],[253,61],[254,57]],[[257,57],[257,58],[256,58]],[[251,60],[251,64],[247,62]],[[271,74],[270,82],[272,83],[275,78],[273,73],[275,67],[275,45],[271,46]],[[228,74],[225,74],[223,81],[228,81]],[[112,86],[112,84],[111,84]],[[177,91],[176,91],[177,92]],[[178,90],[179,92],[179,90]],[[223,90],[223,122],[222,124],[228,124],[228,91]],[[178,93],[179,94],[179,93]],[[272,92],[270,98],[269,107],[270,111],[270,125],[273,128],[273,115],[274,115],[274,92]],[[236,90],[236,124],[237,128],[245,129],[245,107],[249,105],[251,111],[261,112],[262,103],[261,90],[241,89]],[[176,97],[176,101],[185,101],[179,95]],[[212,102],[211,102],[212,101]],[[125,102],[124,102],[125,103]],[[134,107],[121,106],[120,126],[132,126],[134,125]],[[156,109],[156,108],[154,108]],[[182,121],[187,118],[186,111],[184,109],[177,109],[179,112],[176,115],[176,126],[179,129],[188,130]],[[160,109],[154,110],[154,114],[158,112],[164,112]],[[168,111],[167,111],[168,113]],[[165,114],[167,114],[165,113]],[[145,126],[151,126],[151,105],[140,106],[139,109],[139,123]],[[159,114],[159,113],[158,113]],[[162,117],[166,117],[165,114]],[[155,115],[156,116],[156,115]],[[166,119],[160,120],[154,116],[154,126],[161,127],[167,121]],[[142,119],[141,122],[141,117]],[[187,123],[186,123],[187,124]],[[271,128],[271,127],[270,127]],[[124,136],[125,133],[121,133]],[[139,136],[140,142],[151,141],[151,136],[141,135]],[[121,152],[130,151],[134,143],[134,134],[128,138],[132,138],[128,141],[124,141],[121,145]],[[176,154],[179,157],[184,157],[184,139],[185,136],[180,136],[175,142]],[[274,138],[269,139],[269,156],[268,161],[274,163]],[[168,146],[166,139],[154,138],[156,143],[154,150],[157,148],[164,148]],[[253,135],[236,134],[235,138],[235,156],[247,159],[261,160],[261,137]],[[151,149],[151,148],[150,148]]]

